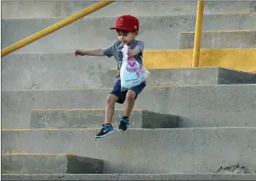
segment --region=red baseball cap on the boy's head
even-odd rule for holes
[[[134,16],[123,15],[117,19],[115,26],[110,28],[110,30],[130,30],[138,31],[139,23],[138,19]]]

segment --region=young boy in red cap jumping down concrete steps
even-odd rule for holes
[[[82,50],[78,49],[75,51],[75,56],[87,55],[87,56],[114,56],[115,60],[118,61],[118,76],[117,81],[114,84],[114,88],[110,92],[110,95],[106,98],[106,116],[105,124],[102,125],[102,129],[95,136],[96,138],[102,138],[110,133],[114,132],[114,128],[111,125],[112,118],[114,115],[114,104],[118,102],[123,104],[126,100],[126,106],[123,116],[119,120],[118,131],[126,132],[129,126],[129,116],[130,112],[134,108],[134,101],[137,96],[146,86],[146,81],[142,82],[141,85],[135,86],[126,91],[121,91],[121,80],[120,80],[120,68],[122,65],[122,48],[123,45],[128,45],[130,49],[128,50],[128,57],[134,57],[139,64],[142,65],[142,53],[144,49],[144,43],[138,41],[135,38],[138,36],[139,22],[138,19],[130,16],[123,15],[119,17],[116,24],[110,30],[116,30],[118,33],[118,41],[115,41],[112,45],[104,49],[94,49],[94,50]]]

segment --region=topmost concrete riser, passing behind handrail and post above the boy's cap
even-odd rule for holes
[[[95,1],[2,1],[2,18],[55,18],[66,17],[91,6]],[[252,13],[254,1],[206,1],[204,13]],[[129,7],[129,8],[126,8]],[[197,2],[194,1],[154,1],[154,2],[114,2],[88,16],[116,16],[133,14],[134,16],[156,16],[196,14]]]

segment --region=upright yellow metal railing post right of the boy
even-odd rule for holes
[[[205,5],[204,1],[198,1],[197,20],[196,20],[195,33],[194,33],[194,52],[193,52],[192,67],[199,66],[204,5]]]

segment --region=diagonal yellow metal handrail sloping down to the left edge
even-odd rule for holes
[[[61,29],[62,27],[67,26],[67,25],[71,24],[72,22],[75,22],[78,19],[85,17],[88,14],[91,14],[94,11],[101,9],[104,6],[109,5],[112,2],[114,2],[114,1],[97,2],[94,5],[89,6],[85,10],[79,11],[77,14],[73,14],[70,17],[63,19],[62,21],[57,22],[54,25],[49,26],[46,29],[39,31],[38,33],[34,33],[30,37],[26,37],[22,41],[18,41],[16,43],[14,43],[13,45],[10,45],[9,47],[2,49],[1,57],[5,57],[6,55],[16,51],[17,49],[21,49],[22,47],[24,47],[34,41],[37,41],[38,39],[45,37],[46,35],[53,33],[54,31],[57,31],[57,30]]]

